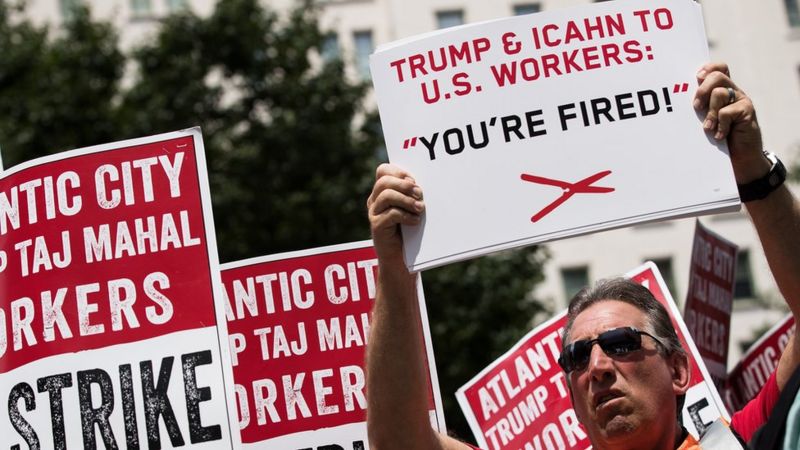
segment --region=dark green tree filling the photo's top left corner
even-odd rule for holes
[[[116,32],[85,8],[63,30],[0,2],[0,146],[6,166],[118,137],[114,99],[124,67]]]

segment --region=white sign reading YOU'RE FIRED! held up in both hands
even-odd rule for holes
[[[389,160],[422,187],[414,270],[738,208],[692,99],[700,5],[617,0],[441,30],[371,58]]]

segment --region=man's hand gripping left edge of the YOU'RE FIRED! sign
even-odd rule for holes
[[[367,199],[367,211],[375,252],[383,262],[402,261],[400,225],[418,225],[425,210],[422,189],[411,175],[391,164],[381,164]]]

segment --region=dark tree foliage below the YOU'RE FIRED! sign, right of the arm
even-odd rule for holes
[[[544,278],[541,247],[506,251],[422,274],[447,427],[472,432],[455,392],[531,328],[544,311],[531,294]]]

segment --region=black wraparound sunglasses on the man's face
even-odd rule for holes
[[[558,357],[558,365],[566,373],[585,369],[589,364],[589,355],[592,353],[592,346],[595,342],[600,344],[600,348],[608,356],[621,356],[635,352],[642,348],[643,334],[650,336],[663,347],[661,341],[646,331],[640,331],[633,327],[614,328],[600,333],[597,339],[581,339],[567,345],[561,352],[561,356]]]

